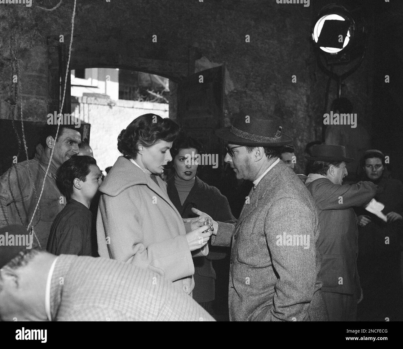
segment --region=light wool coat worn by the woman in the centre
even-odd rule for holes
[[[181,215],[166,193],[139,167],[118,157],[100,186],[98,253],[142,264],[191,294],[195,272]],[[206,245],[207,246],[207,245]],[[208,248],[193,255],[206,255]]]

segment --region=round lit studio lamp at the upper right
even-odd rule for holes
[[[365,51],[364,13],[354,1],[323,7],[312,26],[312,40],[328,63],[348,63]]]

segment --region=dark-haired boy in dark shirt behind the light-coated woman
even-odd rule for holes
[[[54,255],[91,256],[91,200],[102,183],[95,159],[73,156],[57,172],[56,184],[67,205],[56,216],[46,250]]]

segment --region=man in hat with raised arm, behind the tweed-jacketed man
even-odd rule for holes
[[[320,278],[330,321],[355,321],[357,302],[362,299],[357,272],[358,230],[353,207],[363,206],[375,196],[372,182],[342,184],[347,176],[346,149],[340,145],[312,147],[313,161],[305,185],[319,208]]]

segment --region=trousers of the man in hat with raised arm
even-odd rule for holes
[[[357,296],[344,293],[322,292],[328,309],[329,321],[356,321]]]

